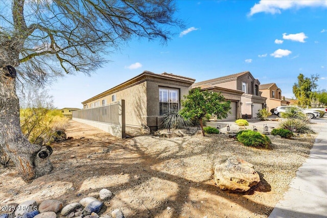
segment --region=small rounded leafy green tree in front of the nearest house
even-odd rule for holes
[[[230,101],[226,101],[221,93],[201,91],[200,88],[191,90],[184,98],[180,114],[185,119],[199,120],[203,136],[202,119],[210,116],[217,116],[218,119],[226,118],[231,108]]]

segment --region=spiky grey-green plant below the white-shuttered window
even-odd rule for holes
[[[184,128],[189,125],[189,121],[186,121],[177,110],[173,110],[164,115],[162,120],[162,128]]]

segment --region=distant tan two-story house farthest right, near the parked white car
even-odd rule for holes
[[[290,102],[285,100],[285,97],[282,96],[282,90],[279,89],[276,83],[262,84],[259,86],[261,96],[266,97],[267,110],[278,107],[289,105]]]

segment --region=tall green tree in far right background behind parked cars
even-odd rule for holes
[[[311,106],[318,86],[316,83],[318,78],[319,75],[311,75],[311,78],[305,77],[303,74],[298,75],[298,82],[293,85],[293,94],[298,100],[299,106]]]

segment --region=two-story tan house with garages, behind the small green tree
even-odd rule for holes
[[[238,111],[240,113],[240,115],[236,115],[236,118],[238,116],[242,118],[255,118],[256,113],[266,105],[267,98],[262,97],[259,91],[260,82],[249,71],[197,82],[193,84],[193,87],[202,85],[212,85],[227,90],[241,91],[242,95],[239,104],[241,110],[235,108],[239,106],[237,101],[235,104],[231,104],[231,112]],[[234,94],[238,95],[239,93]],[[225,98],[228,100],[227,96]]]

